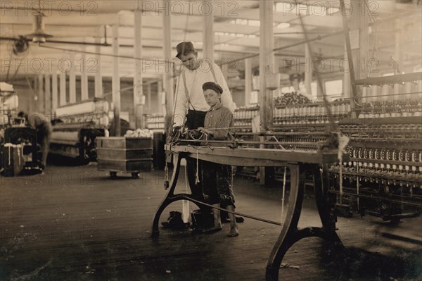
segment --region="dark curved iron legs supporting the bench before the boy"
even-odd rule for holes
[[[153,237],[157,237],[160,233],[158,223],[162,211],[164,211],[168,205],[179,200],[188,200],[196,203],[192,200],[194,198],[191,194],[174,194],[174,189],[176,188],[177,179],[179,177],[180,161],[181,158],[186,157],[188,157],[188,154],[174,153],[173,175],[170,180],[169,191],[155,212],[152,227]],[[290,201],[286,213],[286,220],[283,223],[279,238],[277,239],[276,244],[274,244],[267,261],[266,280],[268,281],[279,280],[279,270],[284,255],[288,249],[290,249],[290,246],[300,239],[306,237],[320,237],[328,242],[332,242],[334,246],[343,249],[343,244],[335,232],[335,220],[331,216],[331,204],[328,199],[328,194],[323,189],[319,165],[288,163],[283,161],[277,161],[277,163],[274,161],[274,164],[276,164],[275,166],[286,166],[290,169]],[[311,171],[314,175],[316,206],[318,208],[319,217],[321,218],[322,227],[305,227],[303,229],[298,229],[298,221],[300,213],[302,212],[306,171]]]

